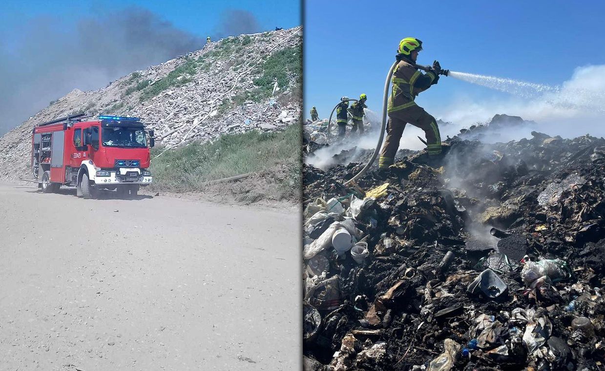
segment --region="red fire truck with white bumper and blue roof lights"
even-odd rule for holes
[[[148,170],[153,130],[137,117],[84,113],[41,123],[31,139],[31,172],[43,192],[76,186],[78,196],[96,198],[100,189],[136,195],[151,184]]]

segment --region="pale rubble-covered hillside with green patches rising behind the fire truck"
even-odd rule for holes
[[[302,27],[244,34],[135,71],[99,90],[77,89],[0,138],[0,180],[29,178],[31,130],[85,111],[141,117],[170,149],[221,134],[283,130],[302,105]]]

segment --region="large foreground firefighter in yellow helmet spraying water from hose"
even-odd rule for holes
[[[388,98],[387,138],[378,162],[381,169],[393,164],[407,123],[424,130],[429,156],[441,154],[441,136],[435,118],[414,102],[420,92],[437,84],[439,80],[437,71],[440,67],[438,62],[434,62],[433,70],[426,74],[420,73],[416,67],[420,50],[422,50],[422,41],[419,39],[405,38],[399,43],[397,50],[399,62],[393,71],[391,78],[393,90]]]

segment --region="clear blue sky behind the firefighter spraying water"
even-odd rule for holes
[[[419,64],[559,85],[575,68],[605,64],[603,1],[340,2],[307,0],[304,113],[327,118],[341,96],[368,95],[381,111],[382,90],[399,40],[423,42]],[[508,94],[442,76],[417,102],[436,117],[455,102]],[[505,112],[494,112],[505,113]],[[506,112],[515,114],[514,112]],[[442,116],[443,119],[448,117]]]

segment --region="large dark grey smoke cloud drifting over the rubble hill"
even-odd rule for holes
[[[24,24],[17,40],[0,34],[0,135],[74,88],[103,87],[205,42],[140,7],[73,24],[38,17]]]

